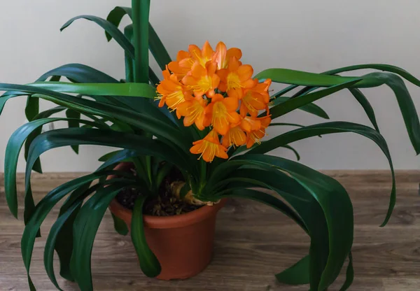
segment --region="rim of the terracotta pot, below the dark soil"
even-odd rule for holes
[[[204,205],[196,209],[195,211],[190,211],[188,213],[183,213],[179,215],[143,215],[144,226],[149,228],[165,229],[193,225],[194,223],[210,218],[212,215],[216,215],[216,213],[226,204],[226,200],[227,199],[221,199],[221,201],[218,204],[214,204],[213,206]],[[109,206],[114,215],[117,215],[118,217],[130,216],[131,220],[132,211],[122,206],[117,201],[117,199],[113,199]]]

